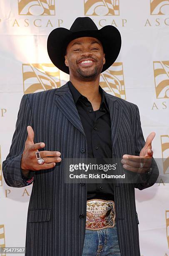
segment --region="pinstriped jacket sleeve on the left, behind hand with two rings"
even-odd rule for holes
[[[15,133],[12,138],[10,152],[2,163],[2,173],[5,182],[10,187],[25,187],[32,183],[34,172],[30,172],[29,177],[22,175],[20,162],[27,139],[27,126],[33,127],[32,110],[27,95],[23,95],[20,102],[20,109],[17,115]]]

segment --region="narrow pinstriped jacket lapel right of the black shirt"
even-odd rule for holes
[[[114,144],[117,140],[117,135],[120,128],[120,123],[122,119],[122,107],[119,105],[116,97],[108,94],[104,91],[104,96],[107,100],[107,104],[110,112],[110,120],[111,120],[111,132],[112,132],[112,148],[114,148]]]

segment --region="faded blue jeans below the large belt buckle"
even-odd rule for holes
[[[101,230],[86,229],[82,256],[120,256],[116,225]]]

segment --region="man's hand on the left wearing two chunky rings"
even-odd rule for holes
[[[34,143],[34,131],[31,126],[27,126],[27,140],[21,159],[21,169],[24,176],[27,176],[30,171],[53,168],[57,162],[62,160],[58,151],[40,151],[40,157],[45,162],[42,165],[38,164],[35,152],[44,147],[45,143],[43,142]]]

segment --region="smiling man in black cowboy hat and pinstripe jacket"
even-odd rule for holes
[[[155,133],[145,143],[138,107],[99,87],[100,73],[114,63],[120,48],[117,28],[98,30],[88,17],[77,18],[70,30],[56,28],[48,37],[50,59],[70,74],[70,81],[22,97],[10,153],[2,166],[9,186],[33,182],[26,255],[140,255],[134,187],[150,187],[158,177],[155,164],[153,169],[140,164],[142,158],[153,160]],[[66,183],[63,160],[83,162],[87,157],[122,158],[124,169],[142,173],[146,182]],[[104,210],[109,209],[103,219],[105,211],[97,215],[99,221],[94,219],[91,202],[95,209],[102,202]]]

